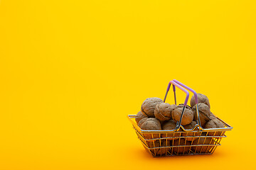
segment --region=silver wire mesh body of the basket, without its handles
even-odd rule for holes
[[[231,130],[230,125],[226,123],[225,129],[200,130],[200,134],[198,134],[198,131],[170,132],[166,130],[142,130],[134,121],[135,116],[128,115],[128,118],[132,121],[133,128],[139,140],[141,140],[142,145],[154,157],[213,154],[216,147],[220,145],[222,138],[226,137],[225,131]],[[218,118],[218,120],[220,119]],[[209,135],[209,133],[211,134]],[[149,137],[150,135],[151,137]],[[167,137],[163,137],[163,135]],[[188,138],[192,138],[192,140],[187,140]]]

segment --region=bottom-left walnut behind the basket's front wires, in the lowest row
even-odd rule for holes
[[[164,148],[157,148],[157,149],[150,149],[153,154],[156,155],[166,155],[167,152],[170,150],[168,148],[170,146],[170,141],[166,140],[156,140],[153,142],[147,142],[149,148],[154,148],[154,147],[164,147]]]

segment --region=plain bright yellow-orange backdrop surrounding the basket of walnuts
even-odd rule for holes
[[[255,11],[235,0],[1,0],[0,169],[252,169]],[[171,79],[233,126],[213,155],[153,158],[137,139],[127,115],[164,98]]]

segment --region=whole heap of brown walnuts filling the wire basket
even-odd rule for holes
[[[176,128],[176,122],[180,120],[181,113],[183,111],[183,104],[176,106],[175,104],[170,105],[169,103],[164,103],[161,98],[146,98],[142,103],[142,108],[139,113],[137,113],[135,120],[142,130],[174,130]],[[203,128],[224,128],[225,125],[215,118],[215,115],[210,112],[210,103],[208,98],[203,94],[198,94],[198,113],[201,121],[201,126]],[[183,113],[183,118],[181,120],[181,125],[186,130],[192,129],[196,125],[196,104],[195,97],[191,98],[191,106],[186,106],[185,112]],[[180,129],[180,131],[182,131]],[[201,132],[174,132],[174,133],[162,133],[162,134],[144,134],[145,139],[154,139],[160,137],[169,137],[167,140],[150,140],[147,142],[149,148],[152,147],[168,147],[168,146],[178,146],[179,145],[213,145],[214,141],[210,137],[195,137],[199,136]],[[219,136],[221,132],[208,132],[208,136]],[[193,137],[186,137],[193,136]],[[186,139],[186,140],[185,140]],[[206,140],[205,140],[206,139]],[[174,140],[174,141],[173,141]],[[170,142],[171,141],[171,142]],[[204,142],[204,143],[203,143]],[[160,144],[161,143],[161,144]],[[179,149],[178,149],[179,148]],[[208,152],[212,146],[198,146],[197,148],[192,147],[191,149],[195,152]],[[189,147],[173,147],[173,152],[183,153],[188,152]],[[154,154],[166,154],[169,149],[152,149]]]

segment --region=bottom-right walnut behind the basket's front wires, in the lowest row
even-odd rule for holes
[[[198,137],[196,140],[193,140],[192,145],[214,145],[213,137]],[[194,152],[197,153],[206,153],[212,149],[213,146],[197,146],[191,147]]]

